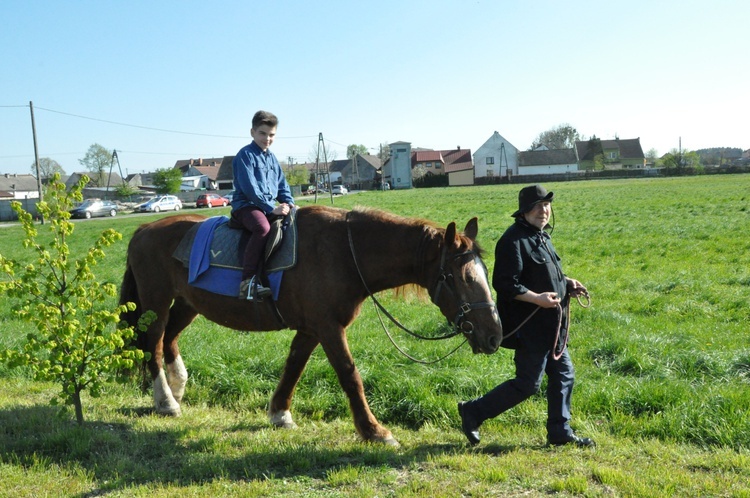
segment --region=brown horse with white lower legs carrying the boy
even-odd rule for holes
[[[370,411],[346,338],[346,328],[369,292],[421,286],[467,337],[474,353],[491,354],[500,345],[502,326],[475,242],[476,218],[459,233],[455,223],[443,229],[377,210],[300,208],[298,263],[286,270],[275,303],[243,301],[188,285],[187,269],[172,254],[187,231],[203,220],[183,215],[142,225],[128,246],[120,302],[136,304],[136,311],[125,316],[133,325],[147,310],[156,313],[142,339],[151,353],[148,369],[157,413],[180,415],[187,370],[177,339],[198,314],[235,330],[296,331],[271,397],[272,424],[295,427],[292,396],[320,344],[349,398],[359,435],[365,441],[393,445],[398,442]]]

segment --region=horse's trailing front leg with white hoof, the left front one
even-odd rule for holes
[[[281,374],[279,385],[276,387],[271,403],[268,406],[268,418],[276,427],[294,429],[297,424],[292,419],[292,397],[297,387],[302,372],[305,370],[310,355],[318,346],[317,337],[297,331],[289,348],[289,356],[286,359],[284,372]]]

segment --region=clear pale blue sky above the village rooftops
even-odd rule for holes
[[[0,173],[67,173],[98,143],[123,173],[233,155],[254,112],[304,162],[383,142],[521,150],[569,123],[644,152],[750,148],[750,2],[0,3]],[[177,133],[179,132],[179,133]]]

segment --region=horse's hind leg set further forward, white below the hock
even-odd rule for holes
[[[185,395],[188,373],[182,361],[177,339],[197,315],[198,313],[179,297],[169,309],[169,320],[164,327],[164,368],[167,371],[167,384],[178,404],[182,403],[182,397]]]

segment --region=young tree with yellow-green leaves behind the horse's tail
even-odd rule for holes
[[[36,329],[18,349],[1,350],[0,361],[10,367],[29,367],[36,380],[59,383],[61,392],[52,404],[72,404],[79,425],[83,424],[81,393],[88,390],[91,396],[99,396],[107,380],[120,379],[118,373],[144,359],[144,353],[130,345],[134,329],[120,322],[120,315],[135,309],[135,304],[112,307],[117,288],[97,281],[92,270],[104,257],[104,248],[122,235],[107,229],[80,258],[70,254],[67,240],[74,225],[68,210],[82,199],[81,190],[88,181],[84,176],[66,192],[60,175],[53,176],[44,200],[37,204],[51,232],[47,243],[37,241],[31,214],[13,202],[26,234],[23,247],[33,253],[33,262],[0,254],[0,271],[7,277],[0,282],[0,291],[17,300],[14,312]],[[149,315],[139,327],[151,319]]]

